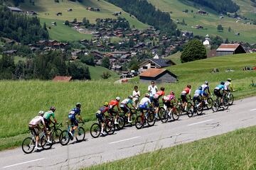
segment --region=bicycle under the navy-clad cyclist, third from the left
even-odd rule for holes
[[[68,145],[68,142],[70,142],[70,140],[73,140],[73,137],[70,137],[69,132],[70,132],[70,128],[73,128],[75,126],[75,125],[69,125],[69,121],[66,121],[66,123],[68,124],[68,130],[63,130],[60,133],[60,145],[63,145],[63,146]],[[84,125],[84,123],[82,123],[82,125]],[[75,130],[75,131],[78,131],[77,135],[75,135],[75,132],[74,132],[74,136],[77,142],[82,142],[83,140],[85,140],[84,128],[78,125],[78,130]]]

